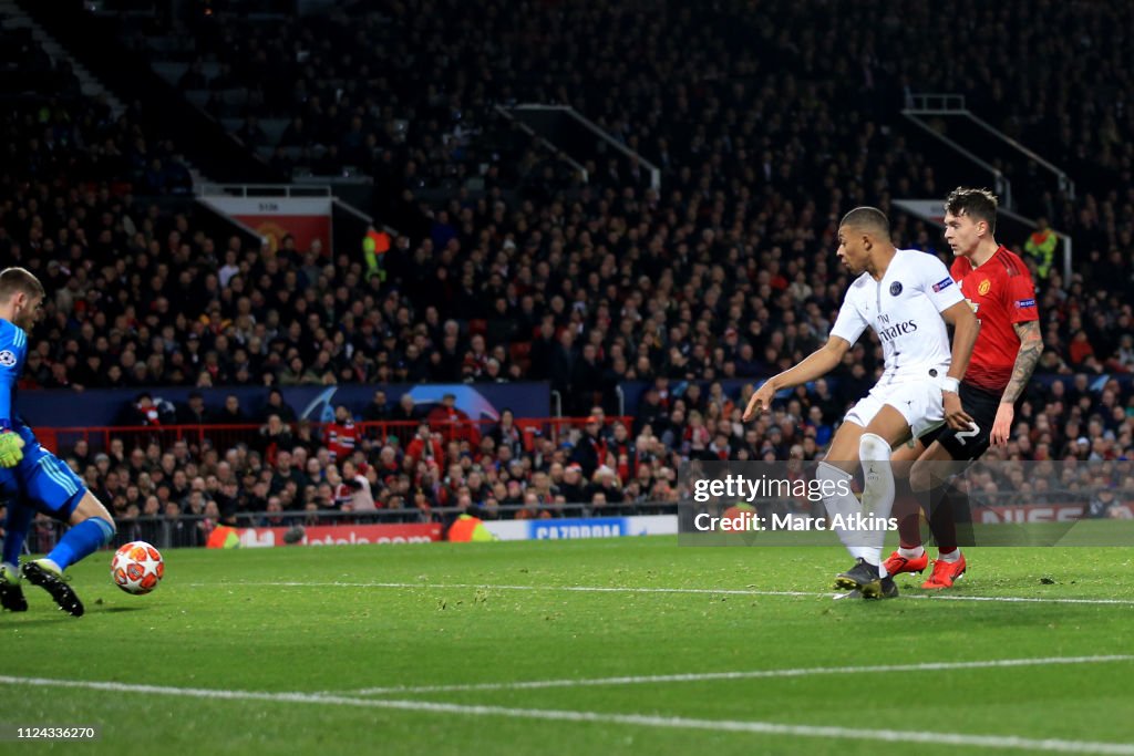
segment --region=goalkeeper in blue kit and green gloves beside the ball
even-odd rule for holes
[[[59,609],[79,617],[83,602],[64,580],[64,570],[115,536],[115,520],[83,481],[40,445],[16,413],[16,384],[27,357],[27,332],[43,309],[43,284],[23,267],[0,271],[0,500],[8,502],[0,559],[0,606],[22,612],[23,577],[51,594]],[[45,559],[18,568],[19,553],[36,512],[70,527]]]

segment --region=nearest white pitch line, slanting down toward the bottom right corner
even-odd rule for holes
[[[708,730],[713,732],[743,732],[748,734],[788,736],[795,738],[874,740],[904,745],[929,744],[1013,750],[1041,750],[1059,754],[1134,756],[1134,745],[1129,744],[1064,740],[1059,738],[1047,738],[1041,740],[1035,738],[1021,738],[1017,736],[964,734],[959,732],[926,732],[879,729],[864,730],[841,727],[818,727],[810,724],[782,724],[778,722],[701,720],[684,716],[661,716],[657,714],[610,714],[606,712],[578,712],[569,710],[509,708],[506,706],[446,704],[428,700],[348,698],[344,696],[321,696],[308,693],[215,690],[210,688],[176,688],[153,685],[128,685],[122,682],[96,682],[90,680],[53,680],[48,678],[19,678],[10,676],[0,676],[0,685],[85,688],[87,690],[110,690],[115,693],[138,693],[150,696],[179,696],[186,698],[221,700],[262,700],[272,703],[321,704],[329,706],[357,706],[364,708],[384,708],[414,713],[458,714],[466,716],[502,716],[519,720],[585,722],[593,724],[619,724],[676,730]]]

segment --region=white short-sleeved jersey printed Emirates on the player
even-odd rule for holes
[[[881,281],[863,273],[850,284],[831,335],[854,343],[874,329],[886,358],[878,385],[943,377],[951,351],[941,312],[958,301],[960,288],[936,255],[898,249]]]

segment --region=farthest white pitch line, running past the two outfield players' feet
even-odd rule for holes
[[[259,588],[435,588],[440,591],[484,588],[488,591],[566,591],[572,593],[661,593],[702,594],[710,596],[788,596],[830,597],[833,592],[815,591],[751,591],[737,588],[650,588],[638,586],[578,586],[578,585],[490,585],[486,583],[187,583],[192,588],[234,588],[251,586]],[[1105,606],[1134,606],[1134,598],[1058,598],[1031,596],[965,596],[958,594],[904,594],[902,598],[922,601],[984,601],[1018,604],[1095,604]]]

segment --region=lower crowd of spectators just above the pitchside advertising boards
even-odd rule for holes
[[[200,417],[228,428],[236,421],[237,431],[259,423],[243,440],[228,434],[227,443],[210,441],[208,432],[174,441],[143,392],[129,408],[136,415],[124,418],[130,426],[112,432],[104,451],[85,439],[64,451],[115,513],[124,542],[200,545],[217,524],[641,513],[678,500],[684,461],[821,458],[847,404],[819,381],[782,397],[765,418],[742,424],[748,391],[751,385],[734,399],[719,382],[703,390],[658,379],[634,417],[610,418],[595,406],[574,427],[535,434],[509,410],[499,423],[482,425],[451,414],[451,402],[422,409],[408,396],[393,402],[382,390],[366,407],[338,407],[336,421],[323,426],[296,419],[278,390],[255,416],[244,414],[235,396],[213,413],[194,394],[169,418]],[[975,476],[974,501],[1064,503],[1090,491],[1092,517],[1119,516],[1134,503],[1122,495],[1134,483],[1129,465],[1116,464],[1134,460],[1134,392],[1114,379],[1093,387],[1082,373],[1033,387],[1012,441],[987,458],[1040,466]],[[1059,465],[1075,461],[1091,464]],[[158,538],[162,528],[167,536]]]

